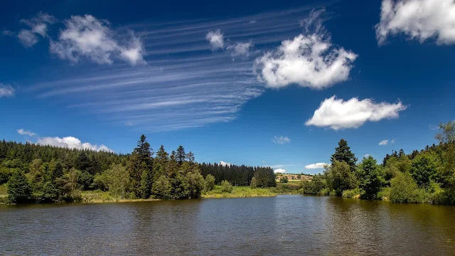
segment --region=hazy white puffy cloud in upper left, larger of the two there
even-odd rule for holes
[[[112,64],[113,58],[120,58],[131,65],[145,63],[140,39],[131,33],[126,45],[119,45],[107,20],[85,15],[71,16],[64,23],[58,41],[50,41],[50,52],[60,59],[77,63],[80,58],[88,58],[98,64]]]

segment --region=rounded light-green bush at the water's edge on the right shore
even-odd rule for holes
[[[426,191],[417,186],[411,174],[398,174],[390,181],[390,201],[394,203],[424,203]]]

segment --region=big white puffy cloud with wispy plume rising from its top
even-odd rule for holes
[[[322,12],[312,11],[309,18],[300,22],[307,31],[316,23],[315,33],[301,33],[294,39],[282,41],[276,50],[255,60],[254,70],[259,81],[273,88],[297,84],[323,89],[348,80],[357,55],[332,45],[319,19]]]

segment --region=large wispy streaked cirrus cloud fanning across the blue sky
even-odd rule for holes
[[[82,72],[69,66],[71,72],[65,72],[71,74],[69,77],[48,76],[28,90],[39,100],[58,102],[75,112],[92,114],[107,124],[126,125],[138,132],[166,132],[231,122],[245,102],[262,95],[264,86],[252,73],[253,60],[232,61],[233,52],[245,53],[242,49],[251,50],[252,46],[237,50],[227,47],[245,42],[280,43],[301,31],[296,21],[309,10],[303,7],[239,18],[139,23],[117,30],[110,25],[114,39],[120,36],[128,40],[128,31],[140,31],[134,35],[141,38],[147,65],[131,68],[101,50],[96,59],[101,63],[109,63],[109,58],[113,60],[109,68],[100,65],[90,72]],[[252,20],[257,22],[248,23]],[[107,25],[101,23],[96,27],[104,26]],[[63,31],[66,28],[65,25]],[[218,29],[223,34],[224,49],[212,51],[206,36],[208,31]],[[87,58],[91,60],[77,56],[80,63]],[[67,70],[67,67],[59,69]],[[60,101],[62,97],[64,102]]]

